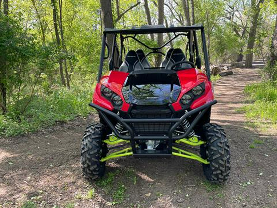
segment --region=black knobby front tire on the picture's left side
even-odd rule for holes
[[[102,142],[104,135],[104,125],[89,125],[82,139],[81,164],[82,172],[89,181],[102,177],[105,173],[106,162],[100,162],[102,157],[106,157],[107,145]]]

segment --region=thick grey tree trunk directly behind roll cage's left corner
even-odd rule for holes
[[[102,22],[104,28],[114,28],[113,13],[111,9],[111,0],[100,0],[101,11],[102,11]],[[109,57],[111,57],[113,35],[107,35],[107,44],[110,49]]]

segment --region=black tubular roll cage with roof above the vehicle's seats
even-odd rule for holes
[[[106,28],[103,31],[103,36],[102,36],[102,49],[101,49],[101,55],[100,55],[100,64],[99,64],[99,71],[98,71],[98,83],[102,77],[102,71],[103,71],[103,63],[104,59],[107,59],[108,57],[105,57],[105,48],[107,47],[108,52],[110,51],[110,48],[106,42],[106,37],[107,35],[113,35],[113,45],[112,45],[112,51],[111,51],[111,58],[109,61],[109,68],[110,70],[113,70],[114,68],[114,53],[117,51],[118,53],[118,60],[119,64],[121,65],[122,63],[122,54],[123,50],[125,51],[125,47],[123,45],[124,39],[134,39],[144,47],[147,47],[148,49],[152,50],[151,52],[148,52],[146,56],[152,54],[152,53],[160,53],[162,55],[165,55],[163,52],[159,51],[159,49],[165,47],[167,44],[171,43],[174,39],[177,37],[184,35],[187,36],[189,42],[188,42],[188,48],[189,48],[189,61],[192,63],[196,63],[196,66],[198,68],[201,67],[201,58],[199,55],[199,48],[198,48],[198,42],[197,42],[197,35],[196,31],[200,30],[201,31],[201,39],[202,39],[202,47],[203,47],[203,53],[204,53],[204,61],[205,61],[205,70],[206,74],[209,80],[211,80],[211,75],[210,75],[210,64],[209,64],[209,59],[208,59],[208,52],[207,52],[207,47],[206,47],[206,38],[205,38],[205,32],[204,32],[204,26],[202,24],[196,24],[192,26],[180,26],[180,27],[164,27],[163,25],[153,25],[153,26],[142,26],[142,27],[133,27],[132,29],[124,29],[124,30],[117,30],[117,29],[112,29],[112,28]],[[177,32],[181,32],[177,34]],[[169,41],[164,43],[161,47],[149,47],[145,43],[141,42],[139,39],[136,38],[136,35],[138,34],[153,34],[153,33],[174,33],[174,37],[171,38]],[[120,51],[118,51],[118,46],[116,43],[116,37],[117,34],[120,35]],[[126,35],[125,37],[123,35]],[[132,36],[133,35],[133,36]],[[193,35],[193,43],[190,41],[191,40],[191,35]],[[196,61],[194,61],[194,51],[196,53]],[[108,53],[109,54],[109,53]],[[160,67],[151,67],[151,68],[160,68]]]

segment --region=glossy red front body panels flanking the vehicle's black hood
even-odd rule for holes
[[[104,86],[110,88],[112,91],[114,91],[121,97],[123,101],[121,110],[127,112],[130,108],[130,104],[126,103],[123,98],[122,87],[128,75],[129,73],[122,71],[110,71],[109,75],[104,75],[101,78],[100,83],[96,85],[93,95],[93,103],[110,111],[114,110],[114,107],[111,104],[111,102],[101,96],[101,85],[103,84]],[[208,81],[207,76],[203,72],[195,68],[191,68],[178,71],[177,75],[179,77],[181,85],[181,93],[177,101],[175,103],[172,103],[172,107],[175,111],[182,110],[182,106],[179,103],[179,101],[182,98],[183,94],[185,94],[186,92],[190,91],[192,88],[203,82],[205,83],[205,92],[201,97],[193,101],[193,103],[191,104],[191,109],[198,108],[201,105],[214,100],[212,83],[211,81]]]

